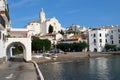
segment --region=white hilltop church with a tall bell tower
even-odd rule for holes
[[[40,11],[39,18],[38,21],[29,22],[25,27],[31,35],[58,33],[64,29],[55,17],[46,18],[43,8]],[[52,32],[49,32],[50,27],[52,27]]]

